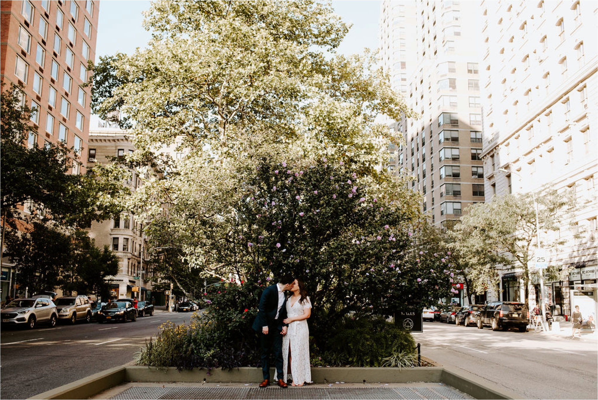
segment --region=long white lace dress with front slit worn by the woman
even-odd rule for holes
[[[312,308],[309,297],[301,304],[296,301],[286,301],[286,315],[290,317],[302,316],[306,308]],[[289,324],[286,335],[282,338],[282,371],[284,380],[288,378],[289,344],[291,347],[291,375],[295,384],[312,383],[312,369],[309,364],[309,327],[307,320],[294,321]]]

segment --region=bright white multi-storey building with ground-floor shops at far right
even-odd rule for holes
[[[545,278],[557,315],[597,315],[598,29],[595,1],[483,1],[483,158],[487,198],[536,197],[550,187],[574,196],[567,223],[539,232],[560,277]],[[536,251],[533,249],[533,251]],[[501,297],[523,298],[518,271],[501,274]],[[530,298],[540,300],[535,285]]]

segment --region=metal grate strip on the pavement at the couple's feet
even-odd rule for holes
[[[266,400],[341,400],[341,399],[469,399],[447,386],[428,387],[130,387],[114,400],[129,399],[266,399]]]

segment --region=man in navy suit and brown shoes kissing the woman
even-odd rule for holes
[[[255,317],[254,331],[258,332],[261,346],[261,364],[264,374],[264,381],[260,387],[270,385],[270,354],[274,354],[274,365],[276,366],[277,382],[280,387],[286,387],[282,379],[282,337],[286,335],[288,324],[282,323],[286,319],[286,296],[285,290],[291,290],[295,279],[291,275],[285,275],[279,283],[270,285],[264,289],[260,298],[260,307]]]

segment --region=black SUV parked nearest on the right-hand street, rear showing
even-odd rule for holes
[[[526,332],[529,310],[520,302],[493,301],[484,306],[475,321],[478,329],[490,325],[493,331],[501,328],[517,328],[519,332]]]

